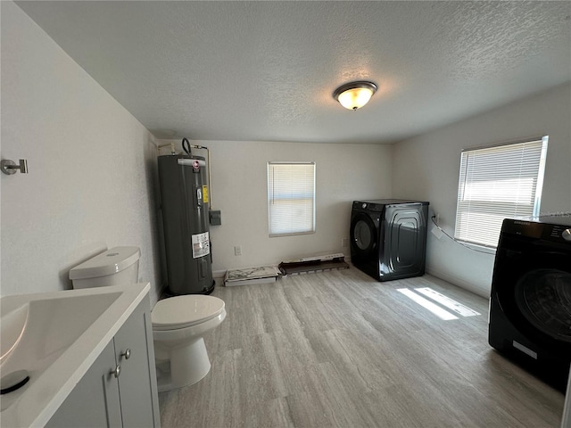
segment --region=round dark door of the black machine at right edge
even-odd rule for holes
[[[526,337],[551,350],[571,352],[570,255],[510,251],[496,283],[501,309]]]

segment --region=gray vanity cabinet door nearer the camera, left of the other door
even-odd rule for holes
[[[46,427],[120,427],[119,385],[111,374],[115,347],[110,342],[81,378]]]

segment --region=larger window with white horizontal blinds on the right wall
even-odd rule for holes
[[[497,247],[504,218],[539,215],[548,136],[465,150],[454,238]]]

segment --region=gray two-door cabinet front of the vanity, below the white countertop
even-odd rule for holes
[[[95,359],[46,427],[158,427],[148,297]],[[148,327],[147,327],[148,324]],[[148,337],[147,336],[148,333]],[[156,381],[155,381],[156,382]]]

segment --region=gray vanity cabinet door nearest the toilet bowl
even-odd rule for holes
[[[115,334],[115,358],[121,367],[119,391],[123,426],[140,428],[160,424],[153,331],[149,303],[143,300]],[[146,310],[145,310],[146,309]],[[150,335],[150,337],[147,337]]]

